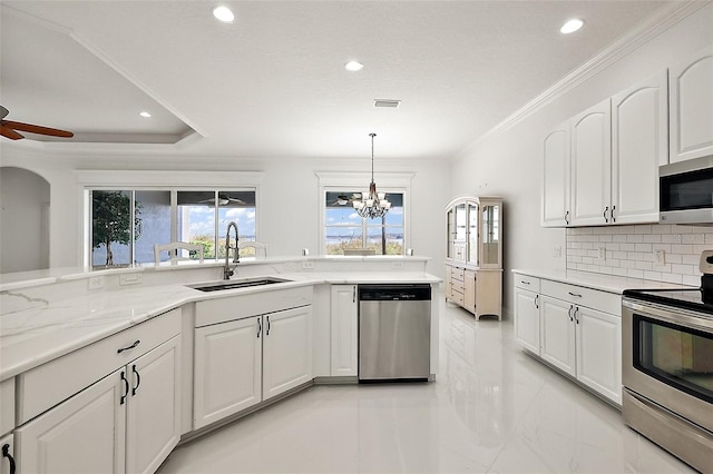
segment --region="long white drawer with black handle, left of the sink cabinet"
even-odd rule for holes
[[[180,308],[98,340],[18,376],[18,425],[69,398],[180,333]],[[134,344],[135,348],[123,350]]]

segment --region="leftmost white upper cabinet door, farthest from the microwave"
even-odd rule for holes
[[[555,128],[544,141],[543,226],[569,224],[569,120]]]

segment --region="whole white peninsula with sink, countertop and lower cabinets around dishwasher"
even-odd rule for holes
[[[246,260],[232,280],[284,282],[217,292],[195,286],[219,282],[219,261],[3,275],[2,440],[14,443],[29,471],[48,461],[71,465],[71,453],[47,460],[40,448],[48,429],[62,426],[72,444],[81,441],[95,453],[82,460],[91,468],[153,472],[180,440],[314,383],[355,383],[356,302],[340,295],[365,283],[438,289],[440,279],[426,273],[427,263]],[[438,367],[438,316],[432,305],[430,379]],[[105,405],[113,415],[91,416]],[[141,414],[152,418],[150,428]],[[104,441],[119,428],[125,442],[107,447]]]

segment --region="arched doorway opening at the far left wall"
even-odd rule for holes
[[[0,167],[0,273],[49,268],[50,185],[23,168]]]

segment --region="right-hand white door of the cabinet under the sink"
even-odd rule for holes
[[[312,306],[263,316],[263,399],[312,379]]]

